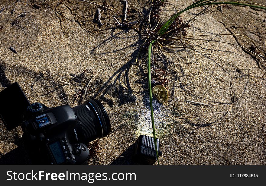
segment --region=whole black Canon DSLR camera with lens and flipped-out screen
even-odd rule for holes
[[[71,108],[31,104],[18,83],[0,92],[0,117],[8,130],[21,125],[34,164],[87,164],[86,143],[107,136],[110,120],[102,103],[90,99]]]

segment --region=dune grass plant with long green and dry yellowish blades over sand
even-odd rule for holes
[[[164,0],[161,0],[161,3],[163,4],[164,3]],[[153,4],[153,1],[152,1],[152,4]],[[216,5],[215,7],[213,7],[213,5]],[[146,38],[146,40],[144,41],[144,43],[141,45],[140,49],[139,49],[139,52],[138,52],[138,55],[137,55],[137,58],[136,58],[136,63],[138,65],[141,65],[138,63],[138,57],[140,55],[140,52],[144,46],[144,44],[148,44],[148,67],[144,66],[144,65],[141,65],[142,67],[144,68],[148,68],[148,90],[149,90],[149,100],[150,100],[150,110],[151,110],[151,121],[152,121],[152,129],[153,129],[153,137],[154,137],[154,145],[155,145],[155,150],[156,150],[156,156],[157,156],[157,162],[159,164],[159,159],[158,159],[158,151],[157,151],[157,144],[156,144],[156,134],[155,134],[155,127],[154,127],[154,116],[153,116],[153,106],[152,106],[152,93],[151,93],[151,72],[153,73],[156,73],[158,75],[161,75],[157,72],[155,72],[153,69],[151,69],[151,53],[152,53],[152,49],[153,49],[153,45],[154,44],[157,44],[160,46],[160,49],[161,51],[163,52],[169,52],[169,51],[166,51],[164,50],[164,48],[177,48],[179,50],[177,51],[174,51],[174,52],[178,52],[180,51],[180,49],[184,49],[184,48],[189,48],[189,47],[192,47],[192,46],[187,46],[187,47],[172,47],[172,46],[169,46],[168,44],[172,41],[176,41],[176,40],[201,40],[201,41],[204,41],[205,43],[207,42],[220,42],[220,43],[227,43],[227,42],[222,42],[222,41],[217,41],[217,40],[214,40],[214,38],[218,35],[237,35],[237,36],[242,36],[242,37],[246,37],[247,39],[249,39],[254,45],[255,47],[258,49],[259,51],[259,54],[243,47],[243,46],[239,46],[239,45],[236,45],[236,44],[233,44],[233,43],[227,43],[227,44],[230,44],[230,45],[234,45],[234,46],[239,46],[241,47],[242,49],[245,49],[247,50],[248,52],[252,53],[253,55],[256,55],[258,56],[259,58],[265,58],[264,54],[261,52],[261,50],[257,47],[257,45],[255,44],[254,41],[252,41],[252,39],[248,38],[247,36],[244,36],[244,35],[240,35],[240,34],[224,34],[224,33],[218,33],[218,34],[208,34],[208,35],[192,35],[192,36],[181,36],[181,37],[175,37],[175,34],[176,34],[176,29],[179,29],[180,28],[184,28],[186,27],[195,17],[197,17],[198,15],[200,14],[203,14],[203,13],[206,13],[207,11],[209,11],[210,9],[212,8],[216,8],[216,7],[219,7],[221,5],[240,5],[240,6],[248,6],[248,7],[254,7],[255,10],[256,8],[259,8],[259,9],[264,9],[266,10],[266,6],[265,5],[261,5],[261,4],[258,4],[258,3],[253,3],[252,1],[251,2],[245,2],[245,1],[239,1],[239,2],[231,2],[231,1],[226,1],[226,2],[217,2],[215,0],[199,0],[195,3],[193,3],[192,5],[188,6],[187,8],[184,8],[182,11],[178,12],[177,14],[174,14],[169,20],[167,20],[164,24],[162,25],[159,25],[157,24],[157,26],[154,28],[153,33],[154,35],[153,36],[148,36]],[[184,12],[186,11],[189,11],[190,9],[194,9],[194,8],[197,8],[197,7],[206,7],[207,8],[204,8],[203,11],[199,12],[198,14],[196,14],[195,17],[193,17],[192,19],[182,23],[181,25],[173,25],[175,20]],[[208,9],[209,7],[211,6],[210,9]],[[150,17],[149,17],[149,20],[150,20]],[[151,25],[151,23],[150,23]],[[159,27],[159,28],[158,28]],[[157,29],[157,30],[156,30]],[[226,31],[226,30],[224,30]],[[223,32],[224,32],[223,31]],[[213,36],[212,39],[200,39],[200,38],[196,38],[196,37],[199,37],[199,36]],[[204,44],[204,43],[202,43]],[[202,45],[200,44],[200,45]],[[199,45],[195,45],[195,46],[199,46]],[[262,59],[262,61],[264,62],[264,60]],[[265,62],[264,62],[264,66],[266,66]],[[201,68],[200,68],[200,71],[201,71]],[[199,75],[200,75],[200,72],[199,72]],[[187,83],[190,83],[194,80],[196,80],[199,75],[194,78],[193,80],[189,81],[189,82],[178,82],[178,83],[181,83],[181,84],[187,84]],[[162,75],[161,75],[162,76]],[[164,76],[163,76],[164,77]],[[167,78],[167,77],[165,77]],[[169,78],[167,78],[169,79]],[[171,80],[171,79],[169,79]],[[173,82],[177,82],[175,80],[171,80]],[[232,81],[232,80],[231,80]],[[232,83],[232,82],[231,82]],[[231,85],[230,85],[231,87]],[[232,101],[233,103],[234,101]],[[219,114],[219,113],[222,113],[222,114],[226,114],[228,113],[230,110],[232,109],[232,104],[229,108],[228,111],[226,112],[214,112],[214,113],[210,113],[210,114],[206,114],[207,117],[213,115],[213,114]],[[200,115],[202,116],[202,115]],[[193,116],[194,117],[194,116]],[[198,117],[198,116],[195,116],[195,117]],[[190,118],[190,117],[184,117],[184,118]],[[205,119],[206,120],[206,119]],[[204,121],[205,121],[204,120]],[[201,124],[202,125],[202,124]],[[200,126],[201,126],[200,125]]]

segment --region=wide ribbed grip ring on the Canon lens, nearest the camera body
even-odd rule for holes
[[[78,124],[81,126],[85,139],[89,139],[96,135],[96,128],[88,109],[84,105],[79,105],[73,108],[78,119]]]

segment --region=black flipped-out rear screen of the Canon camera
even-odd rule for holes
[[[24,121],[23,114],[30,105],[17,82],[0,92],[0,118],[8,130],[14,129]]]

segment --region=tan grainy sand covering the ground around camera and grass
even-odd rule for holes
[[[94,2],[103,4],[102,1]],[[112,126],[126,119],[129,121],[112,129],[111,134],[99,140],[101,149],[88,163],[135,164],[131,158],[133,144],[140,134],[152,136],[152,130],[147,70],[135,64],[143,38],[133,29],[112,28],[115,27],[112,16],[122,21],[123,4],[119,1],[105,1],[106,6],[115,12],[102,10],[104,26],[100,28],[95,20],[95,6],[70,0],[55,10],[57,1],[40,0],[32,3],[39,3],[42,7],[36,9],[28,0],[0,2],[0,9],[5,7],[0,13],[0,20],[14,19],[20,12],[29,11],[26,17],[18,18],[21,23],[17,25],[11,26],[10,21],[0,23],[4,27],[0,31],[0,90],[18,82],[32,103],[42,102],[49,107],[62,104],[77,106],[79,98],[74,100],[73,95],[86,86],[93,74],[119,63],[110,70],[101,71],[94,78],[86,99],[94,97],[103,103]],[[192,1],[168,0],[168,3],[162,8],[161,22],[166,21],[175,9],[180,11]],[[136,28],[142,31],[148,26],[147,20],[143,19],[148,15],[148,7],[145,1],[129,1],[128,15],[136,15],[129,17],[129,21],[138,20]],[[249,25],[243,34],[255,33],[258,38],[254,36],[254,40],[264,52],[265,30],[256,20],[255,10],[230,7],[232,9],[224,7],[223,13],[214,9],[213,12],[197,17],[193,21],[195,33],[213,34],[231,26]],[[10,14],[13,8],[15,13]],[[183,20],[191,18],[195,12],[183,14]],[[229,19],[232,12],[242,15],[242,21]],[[258,14],[263,20],[265,11],[258,11]],[[187,29],[187,34],[193,34],[192,27]],[[237,44],[236,39],[229,35],[218,36],[216,40]],[[244,40],[238,42],[250,46]],[[12,52],[9,46],[14,47],[18,54]],[[257,61],[239,47],[214,42],[193,47],[193,50],[164,55],[167,61],[156,61],[155,65],[170,71],[170,77],[176,81],[194,79],[200,71],[200,65],[202,72],[190,84],[170,82],[167,85],[169,100],[163,105],[154,99],[156,133],[163,151],[160,164],[265,164],[265,130],[262,133],[261,130],[266,122],[266,83],[264,77],[248,76],[248,70],[258,66]],[[141,63],[147,63],[145,58],[145,54],[142,55]],[[86,69],[88,73],[82,74]],[[70,82],[71,85],[40,76],[43,72]],[[253,69],[251,73],[263,75],[259,68]],[[231,104],[230,80],[235,75],[238,77],[232,80],[232,85],[239,99],[232,110],[224,116],[212,115],[196,133],[191,134],[204,117],[182,120],[176,116],[227,111]],[[184,99],[211,106],[193,105]],[[28,162],[27,157],[16,158],[23,154],[21,136],[20,127],[7,131],[0,124],[1,164]]]

